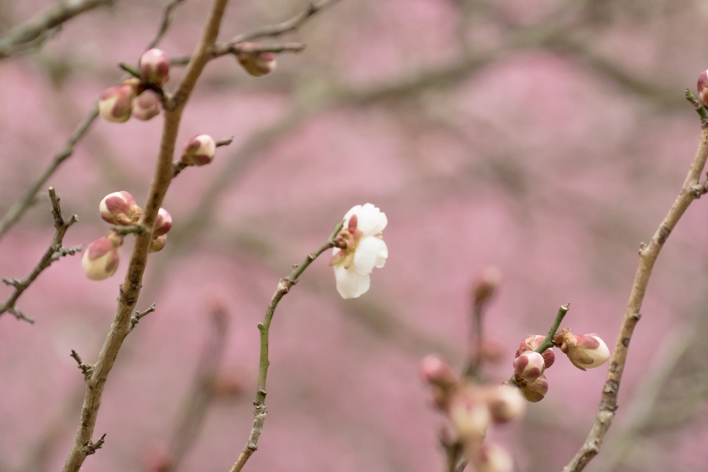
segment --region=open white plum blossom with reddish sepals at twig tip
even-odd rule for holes
[[[371,203],[356,205],[344,215],[329,263],[334,267],[337,292],[342,298],[365,294],[374,267],[384,267],[389,250],[381,232],[387,223],[386,214]]]

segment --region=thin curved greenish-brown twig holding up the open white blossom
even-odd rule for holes
[[[249,440],[246,442],[246,447],[239,454],[239,458],[236,459],[234,466],[229,472],[239,472],[246,461],[253,455],[253,453],[258,449],[258,438],[261,437],[261,432],[263,432],[263,424],[265,423],[265,417],[268,415],[268,410],[265,408],[265,396],[268,394],[265,386],[265,380],[268,376],[268,366],[270,366],[270,359],[268,358],[268,333],[270,332],[270,322],[273,321],[273,314],[275,309],[280,303],[280,299],[285,297],[286,294],[290,292],[293,285],[297,283],[298,277],[302,275],[307,267],[312,264],[312,262],[324,253],[324,251],[334,247],[334,238],[337,236],[339,231],[342,229],[344,221],[340,221],[337,226],[334,227],[332,234],[327,238],[327,242],[324,243],[319,249],[314,251],[314,253],[309,253],[307,258],[302,264],[293,267],[292,272],[290,272],[287,277],[283,277],[278,282],[278,287],[275,289],[273,297],[270,299],[270,304],[268,308],[265,309],[265,317],[261,323],[258,323],[258,331],[261,332],[261,356],[258,362],[258,386],[256,388],[256,400],[253,401],[253,427],[251,427],[251,434],[249,434]]]

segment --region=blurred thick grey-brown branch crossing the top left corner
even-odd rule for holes
[[[34,50],[75,16],[99,6],[110,5],[113,5],[113,0],[59,1],[3,35],[0,38],[0,59]]]

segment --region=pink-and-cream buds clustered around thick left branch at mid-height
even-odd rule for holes
[[[137,224],[142,216],[142,208],[137,205],[130,193],[113,192],[101,200],[98,205],[101,218],[118,228],[111,229],[105,236],[86,246],[81,257],[81,268],[90,280],[107,279],[118,269],[118,248],[123,243],[120,226]],[[149,251],[154,253],[165,247],[167,232],[172,227],[172,217],[166,209],[160,208],[152,231]]]

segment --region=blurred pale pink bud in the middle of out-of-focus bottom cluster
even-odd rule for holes
[[[491,413],[479,391],[465,388],[450,398],[447,410],[455,427],[455,432],[462,439],[483,439],[491,422]]]

